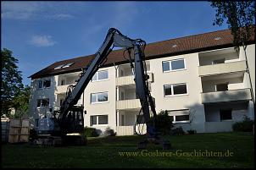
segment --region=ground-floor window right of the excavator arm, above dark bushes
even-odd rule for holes
[[[189,109],[169,111],[173,123],[189,123]]]

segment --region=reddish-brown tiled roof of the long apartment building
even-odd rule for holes
[[[215,38],[220,37],[220,40]],[[250,43],[254,43],[254,32]],[[185,36],[181,38],[170,39],[167,41],[158,41],[147,44],[145,48],[146,59],[163,58],[167,56],[180,55],[190,52],[202,52],[206,50],[218,49],[221,47],[233,47],[233,36],[231,30],[218,30],[214,32],[199,34],[195,36]],[[71,58],[68,60],[59,61],[53,63],[47,68],[38,71],[36,74],[32,74],[31,79],[37,79],[47,77],[56,74],[66,74],[75,71],[80,71],[85,68],[86,65],[94,58],[94,54],[90,56],[84,56],[80,58]],[[74,63],[68,68],[54,69],[61,64]],[[104,67],[111,66],[113,64],[125,63],[123,58],[123,50],[115,50],[108,56],[107,62]]]

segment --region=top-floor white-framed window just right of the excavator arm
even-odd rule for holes
[[[185,69],[184,59],[163,62],[163,72]]]

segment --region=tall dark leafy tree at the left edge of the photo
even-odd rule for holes
[[[23,89],[21,71],[18,70],[18,59],[14,58],[13,52],[7,48],[1,50],[2,58],[2,84],[1,84],[1,115],[9,114],[9,108],[13,107],[13,99],[19,96]]]

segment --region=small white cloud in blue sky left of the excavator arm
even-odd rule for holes
[[[52,36],[32,36],[29,43],[36,47],[50,47],[56,44],[56,41],[53,41]]]

